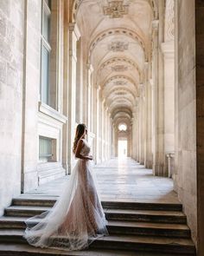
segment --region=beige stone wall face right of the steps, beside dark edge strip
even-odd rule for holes
[[[194,1],[175,1],[175,189],[197,242]]]

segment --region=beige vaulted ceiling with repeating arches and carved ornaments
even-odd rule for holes
[[[154,19],[156,0],[73,3],[73,22],[80,29],[86,63],[92,65],[92,82],[101,87],[114,123],[131,123],[143,69],[150,56]]]

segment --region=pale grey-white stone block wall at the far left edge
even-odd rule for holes
[[[21,191],[24,3],[0,1],[0,215]]]

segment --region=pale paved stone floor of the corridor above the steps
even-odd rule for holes
[[[101,200],[134,200],[178,203],[173,181],[152,175],[151,169],[130,158],[112,159],[94,167]],[[69,176],[43,184],[24,195],[59,196]]]

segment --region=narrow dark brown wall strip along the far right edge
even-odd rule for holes
[[[198,253],[204,254],[204,3],[195,1]]]

